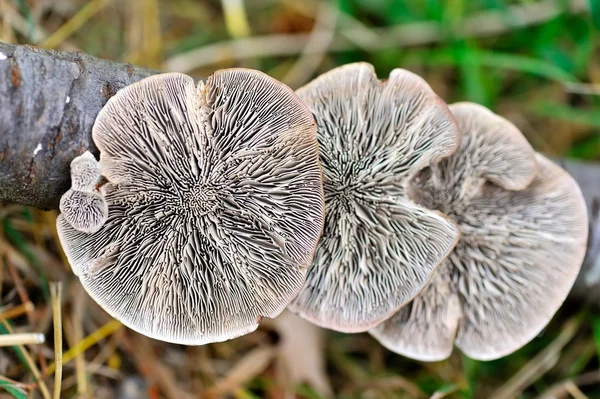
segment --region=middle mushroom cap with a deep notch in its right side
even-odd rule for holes
[[[450,155],[458,130],[423,79],[377,79],[349,64],[297,91],[317,120],[326,220],[300,295],[288,307],[322,327],[360,332],[426,284],[459,238],[456,224],[406,197],[421,169]]]

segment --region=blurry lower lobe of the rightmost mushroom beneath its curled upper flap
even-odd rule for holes
[[[536,161],[540,170],[527,189],[485,184],[460,207],[464,213],[455,211],[461,241],[430,284],[373,336],[400,354],[442,360],[456,329],[466,355],[492,360],[546,326],[579,272],[587,217],[574,180],[542,155]]]

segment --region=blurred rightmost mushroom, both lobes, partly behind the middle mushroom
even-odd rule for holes
[[[492,360],[550,321],[585,254],[587,211],[575,181],[482,106],[450,106],[460,148],[423,170],[410,198],[455,220],[461,239],[425,289],[370,333],[424,361]],[[538,170],[539,169],[539,170]]]

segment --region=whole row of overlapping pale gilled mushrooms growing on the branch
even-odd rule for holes
[[[402,69],[350,64],[296,93],[252,70],[158,75],[110,99],[93,139],[62,246],[108,313],[165,341],[234,338],[288,307],[415,359],[495,359],[549,322],[585,254],[574,180]]]

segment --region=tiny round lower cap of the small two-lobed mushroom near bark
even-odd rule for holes
[[[62,218],[81,233],[95,233],[106,222],[108,207],[104,197],[95,191],[70,189],[60,198]]]

